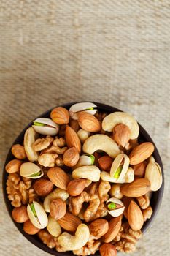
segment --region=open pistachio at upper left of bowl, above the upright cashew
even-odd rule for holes
[[[55,124],[53,120],[50,118],[36,118],[34,120],[34,123],[44,124],[44,126],[41,125],[34,125],[33,128],[36,132],[42,134],[42,135],[56,135],[58,133],[58,124]]]

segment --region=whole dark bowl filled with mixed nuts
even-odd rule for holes
[[[15,226],[51,255],[134,252],[163,186],[150,135],[129,113],[98,102],[35,118],[10,148],[3,173]]]

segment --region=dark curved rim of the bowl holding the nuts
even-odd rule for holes
[[[69,102],[69,103],[65,103],[65,104],[62,104],[62,105],[57,105],[57,106],[55,106],[53,108],[57,108],[58,106],[61,106],[61,107],[64,107],[64,108],[70,108],[71,105],[74,105],[74,104],[79,103],[79,102],[80,101]],[[83,101],[83,102],[92,102],[92,101]],[[115,108],[115,107],[112,107],[110,105],[106,105],[106,104],[103,104],[103,103],[100,103],[100,102],[93,102],[93,103],[97,105],[99,110],[106,111],[107,113],[112,113],[112,112],[115,112],[115,111],[124,112],[124,111],[122,111],[122,110],[120,110],[118,108]],[[50,108],[50,110],[45,111],[44,113],[42,113],[41,115],[39,115],[36,118],[43,117],[43,116],[49,116],[50,111],[53,110],[53,108]],[[28,127],[31,127],[31,125],[32,125],[32,121],[29,124],[26,125],[26,127],[22,130],[22,132],[20,132],[20,134],[17,136],[17,138],[15,138],[14,142],[12,143],[12,145],[14,145],[15,143],[18,143],[18,140],[20,140],[20,138],[23,138],[23,135],[26,132],[26,129],[28,129]],[[139,124],[139,132],[140,132],[140,135],[142,135],[142,137],[144,138],[144,140],[152,142],[154,144],[154,146],[155,146],[155,143],[152,141],[152,138],[147,133],[147,131],[142,127],[141,124]],[[12,146],[9,148],[6,160],[4,162],[4,168],[3,168],[3,174],[2,174],[2,189],[3,189],[5,205],[7,207],[7,211],[9,213],[9,216],[12,219],[12,211],[11,211],[11,209],[13,208],[13,206],[11,205],[11,203],[10,203],[8,197],[7,197],[7,192],[6,192],[6,181],[7,181],[7,176],[8,176],[9,173],[7,173],[6,170],[5,170],[5,166],[7,165],[7,162],[9,162],[9,160],[12,158],[11,148],[12,148]],[[142,233],[146,233],[146,231],[151,227],[152,222],[155,219],[156,215],[158,214],[158,210],[161,207],[161,202],[162,202],[162,198],[163,198],[163,191],[164,191],[163,164],[162,164],[162,161],[161,161],[160,154],[158,153],[158,148],[156,146],[155,146],[155,151],[154,151],[153,155],[154,155],[154,157],[156,159],[156,162],[158,162],[159,165],[161,166],[162,176],[163,176],[163,183],[162,183],[161,188],[157,192],[153,192],[154,194],[157,193],[157,197],[155,199],[155,208],[154,208],[154,211],[152,213],[152,217],[150,219],[148,219],[147,222],[145,222],[144,227],[142,227]],[[26,239],[28,241],[30,241],[32,244],[34,244],[39,249],[42,249],[43,251],[48,252],[51,255],[57,255],[57,256],[60,256],[60,255],[66,255],[66,256],[73,255],[72,251],[69,251],[69,252],[57,252],[55,249],[50,249],[49,247],[47,247],[47,245],[43,244],[42,241],[40,241],[40,239],[36,235],[32,236],[32,235],[28,235],[27,233],[25,233],[23,231],[23,226],[22,226],[23,223],[17,223],[17,222],[14,221],[14,219],[12,219],[12,222],[15,224],[15,227],[18,228],[20,233],[22,233],[23,236],[26,237]],[[99,255],[98,252],[96,252],[95,255]]]

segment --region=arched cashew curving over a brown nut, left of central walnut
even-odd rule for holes
[[[63,201],[66,201],[67,198],[69,198],[69,194],[66,192],[66,190],[59,188],[54,189],[53,192],[45,197],[44,208],[46,212],[50,212],[50,202],[56,198],[61,198]]]

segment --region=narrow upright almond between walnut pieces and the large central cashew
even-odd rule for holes
[[[74,131],[74,129],[72,129],[72,127],[69,127],[69,125],[66,127],[66,145],[69,148],[76,148],[77,151],[80,153],[81,152],[81,142],[80,142],[80,138],[78,137],[77,133]]]

